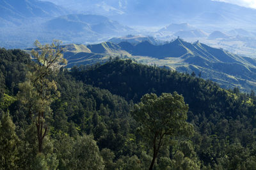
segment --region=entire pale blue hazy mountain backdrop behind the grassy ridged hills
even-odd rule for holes
[[[243,55],[252,56],[255,52],[251,47],[253,40],[243,38],[229,43],[228,39],[223,43],[214,39],[210,41],[205,36],[205,33],[208,35],[214,31],[228,34],[230,30],[243,29],[252,33],[239,36],[255,38],[256,10],[235,4],[211,0],[49,1],[51,3],[46,0],[1,1],[4,11],[0,14],[0,46],[27,48],[35,39],[42,43],[49,43],[52,39],[61,39],[64,43],[97,43],[111,37],[141,34],[163,41],[177,36],[188,38],[188,41],[199,39],[208,45],[218,45]],[[14,7],[10,8],[12,5],[9,4]],[[23,10],[16,9],[15,4],[22,6],[20,9]],[[84,15],[100,15],[108,19],[101,22],[101,17],[98,17],[98,24],[92,25],[78,17]]]

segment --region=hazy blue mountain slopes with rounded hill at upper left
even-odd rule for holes
[[[28,48],[38,39],[49,43],[95,43],[134,32],[102,15],[70,14],[56,4],[37,0],[0,2],[0,46]]]

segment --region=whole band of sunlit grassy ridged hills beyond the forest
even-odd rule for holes
[[[87,46],[73,44],[65,48],[67,67],[104,62],[109,57],[121,56],[183,73],[194,71],[202,78],[220,83],[222,87],[239,87],[247,91],[256,89],[256,59],[240,57],[199,42],[188,43],[178,38],[164,45],[152,45],[148,41],[134,45],[123,41]]]

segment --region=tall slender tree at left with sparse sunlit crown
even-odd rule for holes
[[[51,45],[41,45],[39,41],[34,44],[36,48],[31,51],[31,56],[36,64],[33,64],[32,71],[26,75],[26,81],[20,83],[18,96],[26,104],[29,116],[35,122],[38,152],[41,153],[47,134],[45,120],[51,115],[50,105],[54,99],[60,97],[56,81],[51,76],[58,73],[61,65],[67,64],[67,60],[63,58],[60,41],[53,41]]]

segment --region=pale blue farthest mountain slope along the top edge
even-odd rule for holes
[[[255,24],[256,10],[211,0],[48,0],[76,11],[108,15],[125,25],[159,25],[180,20],[218,27]],[[76,5],[79,4],[79,5]],[[223,25],[223,23],[225,23]]]

